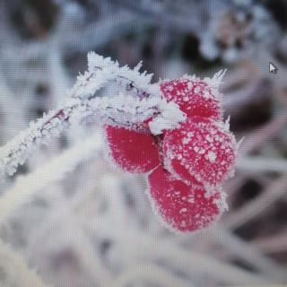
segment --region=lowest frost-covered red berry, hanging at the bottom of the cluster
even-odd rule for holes
[[[200,230],[215,222],[226,209],[222,191],[207,196],[203,186],[188,186],[162,167],[153,170],[148,181],[152,207],[171,230]]]

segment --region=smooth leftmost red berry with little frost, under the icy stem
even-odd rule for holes
[[[156,138],[121,126],[105,126],[109,153],[128,172],[147,172],[160,164]]]

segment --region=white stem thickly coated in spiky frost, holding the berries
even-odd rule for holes
[[[0,149],[0,178],[13,175],[39,145],[48,144],[66,127],[86,117],[101,123],[133,126],[154,117],[150,123],[153,134],[163,128],[173,128],[185,119],[185,114],[173,102],[161,96],[157,83],[151,83],[152,74],[120,67],[109,57],[88,54],[88,71],[80,74],[74,87],[57,109],[30,123],[30,127],[16,135]],[[105,92],[101,92],[106,89]]]

